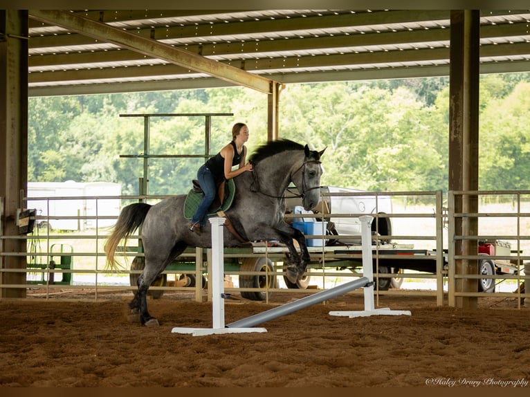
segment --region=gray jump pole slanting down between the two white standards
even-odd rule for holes
[[[262,322],[274,320],[277,317],[282,317],[283,315],[293,313],[302,308],[313,306],[313,304],[318,304],[320,302],[324,302],[327,299],[343,295],[351,290],[362,288],[367,286],[367,284],[369,284],[369,279],[367,277],[360,277],[360,279],[349,281],[340,286],[330,288],[329,290],[323,290],[320,293],[309,295],[307,297],[295,300],[294,302],[289,302],[288,304],[271,308],[268,311],[251,315],[250,317],[246,317],[242,320],[231,322],[230,324],[227,324],[226,327],[250,328],[256,326],[257,324],[262,324]]]

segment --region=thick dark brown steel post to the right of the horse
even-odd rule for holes
[[[479,10],[452,10],[450,21],[448,190],[469,192],[478,190]],[[478,212],[477,196],[455,196],[455,212]],[[455,240],[455,236],[476,236],[478,220],[466,217],[454,221],[455,235],[449,236],[449,243],[454,244],[455,255],[477,255],[476,239]],[[476,259],[457,259],[451,266],[457,275],[478,274]],[[456,293],[476,293],[477,288],[477,279],[455,281]],[[476,308],[477,297],[457,296],[454,303],[458,308]]]

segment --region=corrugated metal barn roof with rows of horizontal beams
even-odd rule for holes
[[[81,17],[75,29],[63,27],[66,12],[29,15],[30,96],[234,84],[212,77],[222,71],[193,70],[116,44],[120,31],[281,83],[449,70],[449,10],[68,11]],[[530,71],[530,10],[481,10],[480,16],[481,73]],[[104,34],[78,33],[86,19]]]

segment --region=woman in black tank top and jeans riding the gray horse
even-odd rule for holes
[[[201,233],[201,228],[206,223],[208,208],[214,201],[215,194],[217,194],[217,184],[223,179],[234,178],[245,171],[253,170],[252,164],[245,164],[246,147],[244,144],[247,140],[248,127],[242,122],[237,122],[232,127],[232,142],[207,160],[197,171],[197,180],[204,196],[188,227],[192,232]],[[235,165],[239,165],[239,167],[232,171],[232,167]]]

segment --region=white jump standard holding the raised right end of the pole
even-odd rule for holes
[[[410,311],[390,310],[390,308],[375,308],[374,305],[374,271],[372,268],[372,220],[373,216],[359,216],[361,223],[361,242],[363,244],[363,278],[369,280],[365,286],[364,311],[330,311],[329,315],[347,317],[367,317],[370,315],[410,315]]]

